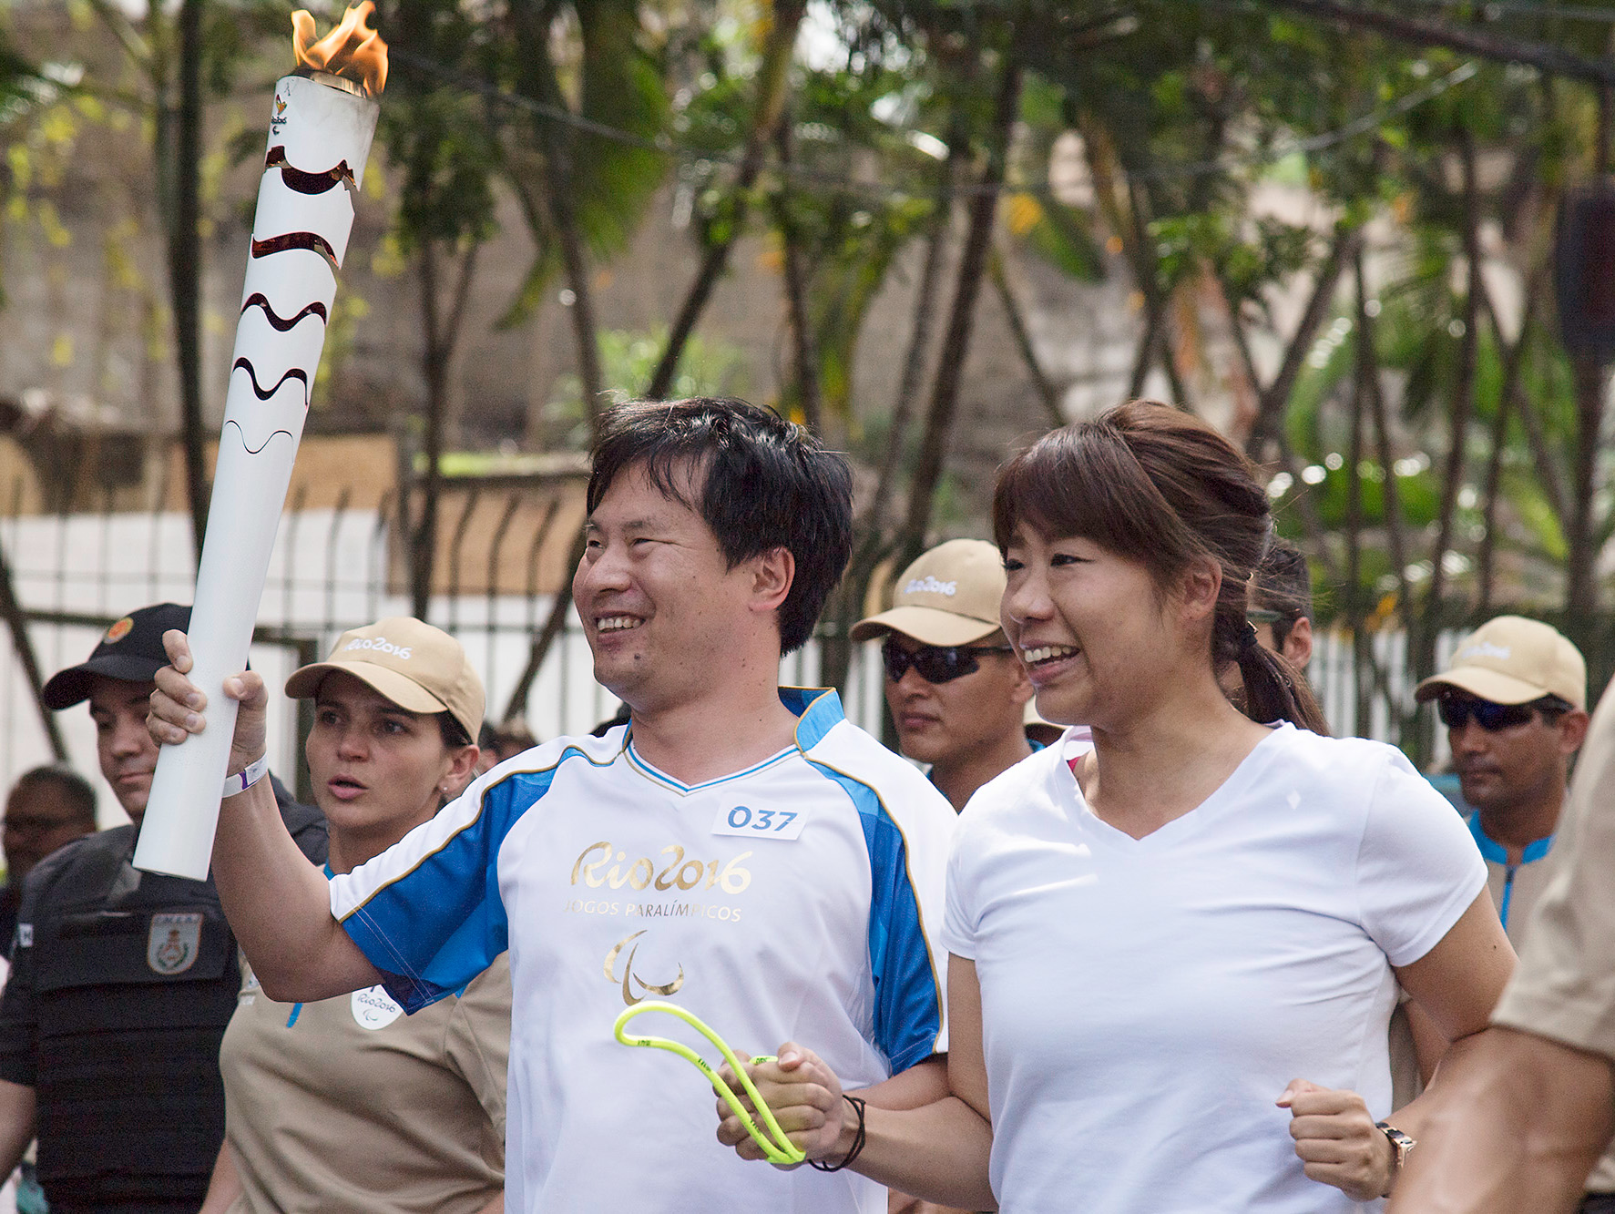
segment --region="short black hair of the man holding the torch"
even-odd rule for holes
[[[612,481],[643,467],[651,484],[701,515],[728,567],[783,547],[796,562],[780,604],[780,652],[812,636],[853,554],[853,473],[801,426],[732,397],[633,400],[601,417],[589,513]],[[704,481],[686,481],[690,475]],[[686,492],[699,483],[701,500]]]

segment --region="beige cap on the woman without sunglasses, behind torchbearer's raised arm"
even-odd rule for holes
[[[391,615],[336,638],[325,662],[292,672],[286,694],[308,699],[320,680],[346,670],[409,712],[447,712],[476,741],[483,728],[483,681],[460,643],[409,615]]]

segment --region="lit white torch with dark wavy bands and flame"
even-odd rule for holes
[[[308,394],[381,111],[388,48],[371,0],[313,42],[292,13],[297,69],[275,86],[270,139],[218,441],[207,539],[191,610],[191,680],[207,730],[165,746],[152,777],[137,869],[203,880],[218,827],[236,702],[224,678],[245,668]]]

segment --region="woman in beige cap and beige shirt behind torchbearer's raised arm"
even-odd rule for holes
[[[333,873],[434,817],[472,777],[483,684],[430,625],[344,633],[286,694],[315,701],[308,772]],[[417,1015],[381,986],[276,1003],[249,975],[220,1053],[226,1145],[203,1214],[502,1209],[509,1046],[504,956]]]

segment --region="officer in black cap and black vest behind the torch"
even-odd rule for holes
[[[53,1214],[194,1214],[224,1137],[218,1046],[241,988],[213,881],[139,872],[157,765],[147,697],[163,631],[189,607],[118,620],[45,704],[89,701],[102,775],[134,825],[78,839],[29,875],[0,996],[0,1174],[34,1135]],[[287,830],[325,859],[325,820],[276,785]]]

